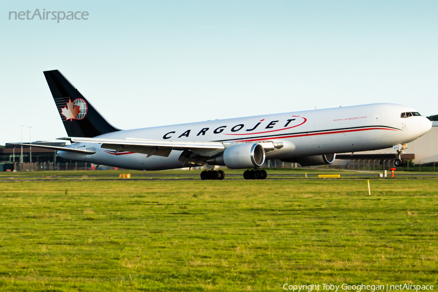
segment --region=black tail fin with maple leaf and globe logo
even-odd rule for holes
[[[70,137],[95,137],[119,131],[58,70],[45,71],[56,108]]]

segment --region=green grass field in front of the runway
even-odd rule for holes
[[[8,175],[15,180],[0,182],[1,291],[438,284],[436,177],[371,179],[368,196],[366,179]]]

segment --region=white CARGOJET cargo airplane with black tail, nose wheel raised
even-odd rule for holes
[[[266,179],[265,160],[330,164],[336,153],[394,147],[396,166],[406,144],[432,128],[418,111],[390,103],[266,114],[153,128],[112,126],[58,70],[44,76],[72,144],[41,146],[65,159],[137,170],[206,166],[202,180],[246,169],[244,179]],[[29,144],[20,144],[31,146]]]

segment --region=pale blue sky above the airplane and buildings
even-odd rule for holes
[[[9,20],[9,11],[88,20]],[[394,102],[438,114],[437,1],[0,2],[0,144],[66,135],[43,71],[118,128]]]

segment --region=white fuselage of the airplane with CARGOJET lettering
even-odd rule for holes
[[[371,104],[121,130],[98,137],[227,143],[282,142],[283,147],[267,152],[266,159],[288,159],[388,148],[411,142],[430,130],[431,122],[427,118],[402,118],[402,112],[415,110],[397,104]],[[96,153],[84,155],[59,151],[58,155],[66,159],[139,170],[183,167],[183,163],[178,161],[182,151],[178,150],[172,150],[168,157],[147,157],[140,153],[115,153],[93,143],[74,143],[68,147],[91,149]]]

